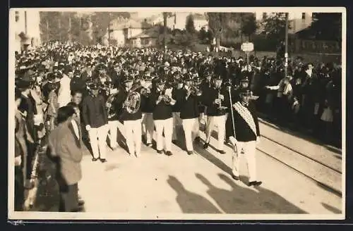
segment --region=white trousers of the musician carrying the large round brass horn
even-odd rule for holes
[[[141,152],[141,120],[125,120],[124,130],[126,145],[128,146],[128,152],[136,156],[140,155]]]

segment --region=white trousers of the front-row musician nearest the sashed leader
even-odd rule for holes
[[[217,149],[223,150],[225,145],[225,116],[208,116],[206,125],[206,143],[210,142],[212,131],[217,126],[218,130],[218,147]]]

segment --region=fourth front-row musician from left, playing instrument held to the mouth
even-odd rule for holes
[[[201,89],[196,86],[193,77],[187,75],[181,97],[180,118],[184,128],[186,151],[189,155],[193,154],[193,140],[199,140],[198,117],[201,94]]]

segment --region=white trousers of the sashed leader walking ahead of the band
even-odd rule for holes
[[[232,173],[239,176],[241,149],[244,151],[244,157],[248,166],[249,182],[256,181],[256,141],[237,142],[237,154],[233,152],[232,156]]]

